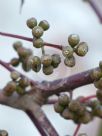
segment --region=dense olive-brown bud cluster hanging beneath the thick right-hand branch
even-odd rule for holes
[[[58,98],[58,101],[54,104],[54,109],[57,113],[59,113],[64,119],[73,120],[74,123],[77,124],[87,124],[92,121],[94,116],[98,116],[94,114],[94,108],[92,107],[92,103],[82,102],[83,98],[77,98],[75,100],[71,100],[67,95],[62,95]],[[100,116],[99,116],[100,117]]]

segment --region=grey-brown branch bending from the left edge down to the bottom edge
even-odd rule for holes
[[[59,136],[44,112],[41,110],[39,104],[36,102],[35,97],[35,92],[21,97],[6,97],[0,92],[0,103],[25,111],[32,119],[39,132],[42,135],[44,134],[43,136]]]

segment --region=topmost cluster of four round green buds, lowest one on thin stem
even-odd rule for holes
[[[41,38],[44,34],[44,31],[48,30],[50,25],[46,20],[40,21],[39,24],[37,24],[36,18],[30,18],[26,22],[27,26],[32,29],[32,35],[33,35],[33,46],[35,48],[41,48],[44,46],[44,41]]]

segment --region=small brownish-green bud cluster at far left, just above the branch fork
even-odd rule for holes
[[[30,86],[29,80],[25,77],[21,77],[16,71],[11,72],[10,77],[12,81],[8,82],[3,88],[4,94],[6,96],[11,96],[16,92],[19,95],[24,95],[26,93],[26,88]]]

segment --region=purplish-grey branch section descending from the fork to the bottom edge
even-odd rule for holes
[[[27,110],[26,113],[32,119],[34,124],[36,122],[36,126],[40,132],[41,128],[43,128],[43,133],[45,134],[43,135],[41,132],[42,136],[59,136],[41,108],[32,108],[31,110]]]

